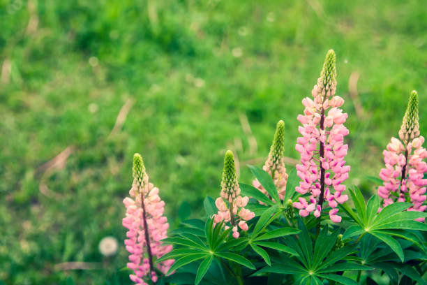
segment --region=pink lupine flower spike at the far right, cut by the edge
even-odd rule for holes
[[[391,138],[387,150],[382,152],[386,167],[380,171],[384,184],[378,187],[378,195],[384,199],[384,207],[397,200],[411,202],[408,211],[424,212],[427,208],[423,205],[427,198],[427,180],[423,177],[427,164],[423,159],[427,157],[427,151],[422,147],[424,137],[419,136],[418,94],[415,91],[407,104],[399,138]],[[424,218],[417,221],[424,221]]]

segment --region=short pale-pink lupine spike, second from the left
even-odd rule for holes
[[[255,214],[246,209],[249,197],[240,196],[239,182],[237,182],[236,166],[231,150],[227,150],[224,158],[223,180],[221,181],[221,194],[215,201],[218,214],[213,215],[213,221],[218,224],[220,221],[226,223],[225,227],[232,226],[233,237],[239,238],[237,226],[242,231],[248,231],[249,221]]]

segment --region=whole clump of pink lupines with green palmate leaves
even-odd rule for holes
[[[296,168],[286,173],[279,121],[263,168],[249,166],[253,186],[237,181],[234,156],[225,153],[220,196],[204,200],[205,217],[167,233],[165,203],[135,154],[132,198],[123,200],[135,284],[427,284],[427,151],[417,92],[400,140],[383,152],[378,194],[366,203],[344,184],[349,131],[335,57],[329,50],[313,98],[302,101]]]

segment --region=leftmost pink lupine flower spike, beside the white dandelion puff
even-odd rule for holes
[[[158,188],[149,183],[144,162],[140,154],[133,156],[133,184],[129,191],[132,198],[123,200],[126,217],[123,226],[128,228],[124,241],[129,251],[128,268],[134,274],[130,279],[136,284],[147,284],[149,279],[157,282],[156,270],[167,273],[173,260],[153,265],[153,258],[160,258],[172,250],[171,245],[163,245],[160,240],[167,238],[167,218],[163,217],[165,202],[158,196]]]

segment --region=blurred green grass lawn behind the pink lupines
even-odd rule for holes
[[[0,0],[0,280],[130,284],[122,242],[112,258],[98,242],[125,235],[133,153],[172,224],[183,200],[197,214],[218,195],[225,150],[249,183],[245,165],[262,164],[279,119],[298,157],[301,99],[329,48],[349,114],[348,183],[373,191],[364,175],[379,172],[412,89],[427,107],[426,29],[421,0]],[[70,261],[103,269],[58,268]]]

